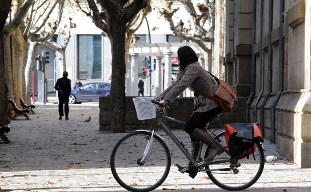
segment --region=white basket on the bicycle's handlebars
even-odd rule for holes
[[[156,117],[155,104],[151,100],[155,97],[135,97],[133,102],[139,120],[154,119]]]

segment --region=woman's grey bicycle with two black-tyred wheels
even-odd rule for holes
[[[211,161],[204,161],[209,148],[200,142],[199,153],[194,159],[162,120],[166,119],[179,125],[185,123],[166,116],[166,105],[155,100],[152,102],[164,109],[160,113],[157,125],[151,126],[150,130],[136,130],[124,136],[112,151],[111,171],[123,188],[132,192],[149,192],[165,181],[170,170],[172,148],[158,134],[160,129],[172,139],[192,166],[199,168],[199,172],[206,173],[215,185],[224,190],[244,190],[260,178],[265,164],[262,143],[256,143],[253,160],[252,158],[235,160],[229,155],[224,131],[218,134],[213,131],[211,136],[223,146],[224,153],[215,156]],[[179,172],[184,173],[188,169],[189,167]]]

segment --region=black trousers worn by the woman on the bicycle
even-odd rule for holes
[[[206,112],[193,113],[184,126],[185,132],[191,135],[191,133],[195,128],[203,129],[207,122],[213,120],[220,113],[222,113],[222,109],[220,107],[217,107],[215,109]],[[190,138],[191,141],[199,141],[191,136]]]

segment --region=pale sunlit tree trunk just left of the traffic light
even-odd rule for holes
[[[26,92],[25,92],[25,101],[30,104],[30,93],[32,90],[30,90],[30,81],[32,80],[32,70],[33,70],[33,63],[35,62],[35,53],[38,47],[37,42],[30,41],[29,49],[28,49],[28,57],[27,57],[27,62],[26,62],[26,67],[25,67],[25,87],[26,87]]]

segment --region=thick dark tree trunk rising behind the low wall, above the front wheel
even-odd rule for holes
[[[125,19],[111,18],[109,38],[112,50],[111,133],[125,132]]]

